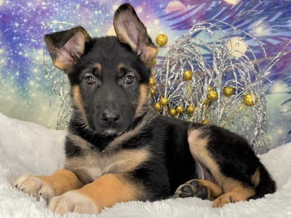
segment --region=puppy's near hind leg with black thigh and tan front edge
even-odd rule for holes
[[[259,162],[249,164],[250,161],[244,160],[243,156],[248,153],[249,158],[253,158],[249,146],[244,144],[243,140],[240,141],[240,138],[238,140],[236,136],[223,131],[225,130],[203,126],[188,133],[189,148],[195,161],[210,171],[215,184],[225,193],[213,202],[213,207],[221,207],[229,202],[245,201],[256,194],[255,187],[251,184],[251,174],[254,173]],[[227,144],[227,141],[237,141],[237,144]]]

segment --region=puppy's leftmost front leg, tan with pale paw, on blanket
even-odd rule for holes
[[[43,197],[47,202],[67,191],[81,188],[84,184],[69,170],[61,169],[50,176],[22,175],[13,186],[35,198]]]

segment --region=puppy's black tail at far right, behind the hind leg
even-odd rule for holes
[[[259,173],[256,175],[256,180],[257,183],[259,181],[259,184],[256,184],[256,182],[254,184],[255,186],[257,185],[256,195],[250,197],[249,199],[263,198],[266,194],[272,194],[276,191],[276,183],[272,176],[262,164],[259,165]]]

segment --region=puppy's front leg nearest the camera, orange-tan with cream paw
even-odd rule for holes
[[[123,174],[105,174],[78,190],[54,197],[49,209],[60,214],[67,211],[97,214],[117,202],[143,199],[144,187]]]

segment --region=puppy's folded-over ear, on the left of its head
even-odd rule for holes
[[[85,44],[91,39],[82,27],[45,35],[53,64],[62,70],[69,70],[84,54]]]

